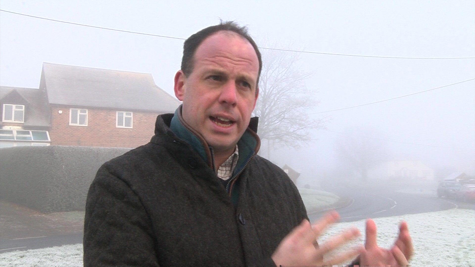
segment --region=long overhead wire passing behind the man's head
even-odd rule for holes
[[[159,34],[152,34],[152,33],[144,33],[144,32],[136,32],[136,31],[122,30],[122,29],[105,28],[105,27],[99,27],[99,26],[93,26],[93,25],[87,25],[87,24],[69,22],[69,21],[58,20],[58,19],[48,19],[48,18],[43,18],[43,17],[38,17],[38,16],[32,16],[32,15],[28,15],[28,14],[23,14],[23,13],[8,11],[8,10],[0,10],[0,11],[8,12],[8,13],[16,14],[16,15],[21,15],[21,16],[26,16],[26,17],[30,17],[30,18],[45,19],[45,20],[56,21],[56,22],[67,23],[67,24],[78,25],[78,26],[85,26],[85,27],[90,27],[90,28],[95,28],[95,29],[107,29],[107,30],[114,30],[114,31],[120,31],[120,32],[127,32],[127,33],[133,33],[133,34],[141,34],[141,35],[147,35],[147,36],[155,36],[155,37],[162,37],[162,38],[171,38],[171,39],[186,40],[186,38],[180,38],[180,37],[173,37],[173,36],[166,36],[166,35],[159,35]],[[309,53],[309,54],[320,54],[320,55],[332,55],[332,56],[345,56],[345,57],[377,57],[377,58],[395,58],[395,59],[466,59],[466,58],[475,58],[475,57],[387,57],[387,56],[367,56],[367,55],[352,55],[352,54],[324,53],[324,52],[304,51],[304,50],[292,50],[292,49],[281,49],[281,48],[265,48],[265,47],[259,47],[259,48],[261,48],[261,49],[269,49],[269,50],[286,51],[286,52],[298,52],[298,53]]]

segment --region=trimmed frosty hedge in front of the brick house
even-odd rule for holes
[[[19,146],[0,149],[0,198],[43,211],[84,210],[99,167],[129,148]]]

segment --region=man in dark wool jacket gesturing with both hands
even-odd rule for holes
[[[185,41],[174,86],[183,104],[158,116],[150,143],[104,163],[90,187],[85,266],[321,266],[358,254],[361,264],[407,265],[405,224],[391,250],[376,245],[369,221],[365,248],[323,257],[359,233],[318,246],[338,215],[311,226],[292,181],[256,154],[261,67],[257,45],[232,22]]]

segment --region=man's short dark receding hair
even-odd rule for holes
[[[183,57],[181,58],[181,71],[185,74],[185,76],[189,76],[190,73],[193,71],[193,57],[195,55],[196,49],[199,45],[209,36],[215,34],[218,31],[227,30],[237,33],[242,38],[246,38],[249,43],[251,43],[254,51],[256,51],[257,59],[259,60],[259,72],[257,73],[257,81],[256,86],[259,84],[259,76],[261,76],[261,69],[262,69],[262,60],[261,60],[261,52],[259,52],[259,48],[256,45],[256,42],[251,38],[251,36],[247,33],[247,27],[240,27],[234,21],[226,21],[219,23],[218,25],[210,26],[208,28],[202,29],[199,32],[191,35],[188,39],[186,39],[185,44],[183,45]],[[256,87],[258,88],[258,86]],[[257,91],[256,91],[257,93]]]

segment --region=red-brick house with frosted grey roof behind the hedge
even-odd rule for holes
[[[0,86],[0,105],[0,147],[133,148],[148,143],[157,115],[180,101],[151,74],[45,62],[38,89]]]

